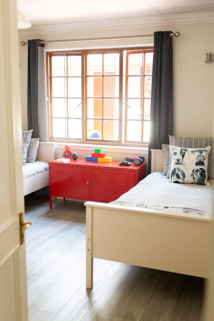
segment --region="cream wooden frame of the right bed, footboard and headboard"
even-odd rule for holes
[[[151,171],[163,170],[162,150],[152,150]],[[86,202],[86,287],[93,258],[209,278],[212,218],[193,214]]]

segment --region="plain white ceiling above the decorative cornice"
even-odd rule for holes
[[[214,11],[213,0],[17,0],[32,26]]]

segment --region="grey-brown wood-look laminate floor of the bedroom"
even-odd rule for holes
[[[94,259],[85,287],[85,207],[25,197],[29,321],[200,321],[204,280]]]

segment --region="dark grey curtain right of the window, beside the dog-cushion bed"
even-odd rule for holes
[[[148,174],[151,172],[151,149],[161,149],[173,134],[173,52],[172,31],[154,32],[152,65],[150,141]]]

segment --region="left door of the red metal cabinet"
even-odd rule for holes
[[[88,200],[90,199],[89,177],[89,168],[51,165],[51,195]]]

